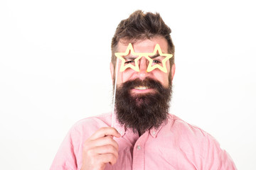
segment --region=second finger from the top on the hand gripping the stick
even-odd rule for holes
[[[112,136],[100,137],[96,140],[90,140],[87,142],[88,146],[92,147],[100,147],[103,145],[112,145],[118,150],[118,144],[115,140],[113,140]]]

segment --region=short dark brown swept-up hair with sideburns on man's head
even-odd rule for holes
[[[120,39],[122,40],[144,40],[151,39],[156,36],[164,37],[168,42],[169,53],[174,55],[174,44],[171,40],[171,29],[166,26],[159,13],[143,13],[143,11],[135,11],[129,18],[122,20],[114,33],[112,38],[111,50],[112,58],[111,62],[114,64],[117,61],[114,52],[117,50],[117,44]],[[170,59],[170,65],[174,64],[174,56]]]

